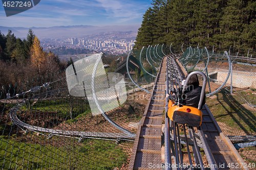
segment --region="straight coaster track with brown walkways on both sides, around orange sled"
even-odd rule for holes
[[[141,124],[137,130],[135,144],[133,148],[133,154],[131,157],[129,169],[231,169],[228,167],[230,163],[243,164],[244,161],[233,147],[232,143],[228,138],[226,138],[216,120],[209,111],[207,105],[203,106],[202,112],[202,126],[197,129],[195,133],[194,128],[186,127],[183,125],[184,135],[180,134],[180,128],[176,123],[170,122],[168,116],[166,116],[168,109],[168,101],[165,98],[165,126],[163,129],[164,137],[164,163],[161,162],[159,158],[160,146],[159,142],[155,139],[160,139],[159,132],[158,135],[152,133],[153,131],[159,131],[159,125],[154,125],[154,119],[149,114],[152,113],[152,108],[157,106],[156,96],[160,87],[160,83],[164,82],[165,91],[168,93],[170,90],[181,86],[181,81],[185,78],[185,69],[177,60],[179,55],[172,55],[168,58],[165,56],[166,60],[166,72],[163,75],[162,63],[160,71],[158,73],[153,91],[148,101],[144,116],[142,118]],[[198,73],[198,72],[196,72]],[[165,78],[166,79],[163,79]],[[206,83],[204,83],[205,85]],[[160,92],[160,91],[159,91]],[[154,98],[155,95],[155,98]],[[154,101],[154,102],[153,102]],[[154,111],[157,111],[156,109]],[[160,112],[160,108],[158,110]],[[160,115],[160,114],[159,114]],[[158,117],[160,118],[160,117]],[[148,130],[152,128],[151,130]],[[186,134],[186,128],[188,129],[189,135]],[[207,136],[207,137],[206,137]],[[154,139],[154,140],[153,140]],[[158,144],[157,144],[158,143]],[[187,166],[183,166],[183,156],[181,152],[182,144],[187,146],[187,152],[189,153],[188,159],[189,163]],[[191,152],[188,145],[193,149]],[[208,164],[204,165],[201,151],[199,147],[205,152]],[[154,148],[154,149],[152,149]],[[194,154],[193,157],[190,154]],[[172,157],[174,157],[174,162],[172,162]],[[193,161],[194,167],[193,167]],[[152,166],[160,165],[160,166]],[[239,169],[247,169],[246,167],[241,167]]]

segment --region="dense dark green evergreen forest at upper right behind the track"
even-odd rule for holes
[[[254,0],[153,0],[135,46],[187,44],[256,48]]]

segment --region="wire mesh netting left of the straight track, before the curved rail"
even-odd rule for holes
[[[127,168],[147,99],[130,94],[102,58],[2,86],[2,169]]]

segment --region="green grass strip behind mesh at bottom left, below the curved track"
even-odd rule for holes
[[[3,131],[4,127],[0,127]],[[32,136],[36,138],[36,133]],[[51,143],[44,136],[38,140]],[[48,141],[49,140],[49,141]],[[63,146],[35,144],[20,141],[14,135],[2,135],[0,142],[0,167],[2,169],[113,169],[126,162],[127,153],[115,141],[70,138]]]

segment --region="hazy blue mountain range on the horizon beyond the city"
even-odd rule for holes
[[[29,29],[32,29],[34,34],[38,38],[60,38],[60,37],[78,37],[89,34],[97,34],[101,32],[110,32],[110,31],[133,31],[138,32],[139,25],[134,26],[56,26],[56,27],[2,27],[0,26],[0,31],[3,34],[7,34],[8,30],[11,30],[12,33],[19,38],[26,38]]]

